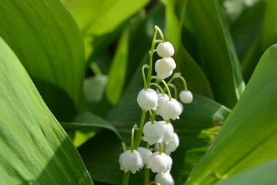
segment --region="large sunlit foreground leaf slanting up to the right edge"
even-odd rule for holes
[[[214,184],[277,157],[277,45],[259,61],[217,139],[186,184]]]

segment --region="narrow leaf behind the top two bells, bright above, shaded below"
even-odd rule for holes
[[[175,9],[180,6],[180,9],[183,10],[183,8],[186,7],[186,2],[183,4],[179,4],[177,1],[173,0],[164,0],[163,2],[166,6],[166,40],[170,41],[175,47],[175,55],[173,58],[177,64],[177,71],[181,72],[185,77],[190,91],[213,98],[211,85],[206,75],[202,69],[199,68],[194,59],[190,57],[181,43],[182,24],[179,19],[183,19],[183,17],[181,15],[180,18],[178,18]]]

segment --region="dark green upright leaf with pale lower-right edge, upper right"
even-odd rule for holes
[[[184,11],[184,46],[199,61],[215,99],[232,108],[244,90],[244,81],[220,4],[188,0]]]

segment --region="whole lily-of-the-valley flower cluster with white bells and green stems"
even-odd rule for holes
[[[150,64],[145,64],[142,68],[144,88],[139,92],[136,99],[142,109],[141,123],[139,128],[136,125],[132,128],[131,147],[129,150],[125,147],[125,152],[119,157],[119,163],[120,170],[124,171],[126,176],[128,171],[136,173],[145,166],[150,168],[153,173],[157,173],[155,182],[161,185],[172,185],[175,182],[170,175],[172,166],[170,154],[179,146],[179,137],[174,132],[170,120],[179,119],[179,115],[184,109],[181,102],[190,104],[193,101],[193,94],[187,90],[186,81],[180,73],[172,75],[176,68],[175,60],[172,59],[175,50],[170,42],[164,40],[159,27],[156,26],[155,30],[150,51]],[[156,39],[158,32],[161,40]],[[155,50],[156,43],[159,44]],[[157,52],[161,57],[155,63],[156,76],[152,76],[154,52]],[[147,78],[144,73],[145,68],[148,68]],[[172,78],[168,82],[164,81],[171,75]],[[153,79],[161,82],[164,89],[160,84],[152,82]],[[181,102],[177,101],[177,88],[172,84],[174,79],[181,79],[184,83],[184,90],[179,93]],[[156,86],[157,90],[150,88],[150,86]],[[170,87],[175,89],[175,98],[170,93]],[[150,121],[145,123],[146,112],[150,115]],[[161,116],[163,120],[157,121],[156,115]],[[135,130],[138,130],[138,133],[134,138]],[[143,137],[141,136],[142,133]],[[146,147],[139,147],[141,140],[147,142]],[[153,148],[150,148],[150,146],[153,146]],[[149,170],[145,170],[145,173],[149,173]],[[145,178],[149,178],[149,174],[145,174]],[[123,178],[123,184],[127,184],[126,179],[128,178]],[[145,179],[145,184],[149,184],[149,179]]]

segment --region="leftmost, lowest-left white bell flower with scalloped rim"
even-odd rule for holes
[[[136,173],[141,168],[143,168],[143,158],[141,154],[137,150],[127,150],[122,153],[119,157],[120,170],[126,173],[127,171],[131,171],[132,173]]]

